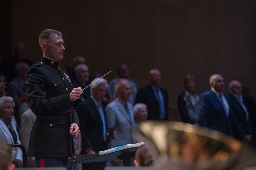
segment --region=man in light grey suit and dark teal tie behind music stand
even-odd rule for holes
[[[109,132],[113,131],[114,128],[116,138],[110,141],[108,148],[136,143],[133,134],[133,106],[127,102],[131,96],[131,85],[127,79],[119,79],[114,88],[117,98],[109,103],[105,110]],[[118,161],[112,161],[112,165],[118,164]]]

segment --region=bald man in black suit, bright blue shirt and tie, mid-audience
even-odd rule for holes
[[[157,69],[149,72],[150,84],[138,89],[136,103],[145,103],[148,109],[147,120],[168,120],[168,92],[159,87],[161,73]]]

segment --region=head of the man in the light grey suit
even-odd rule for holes
[[[123,102],[127,102],[131,96],[131,85],[127,79],[119,79],[114,86],[116,95]]]

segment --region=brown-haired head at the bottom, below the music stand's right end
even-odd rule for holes
[[[141,146],[136,150],[134,159],[136,167],[151,166],[152,162],[152,157],[145,146]]]

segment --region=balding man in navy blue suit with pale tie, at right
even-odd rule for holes
[[[196,108],[197,123],[231,136],[233,136],[233,123],[239,129],[237,132],[241,136],[246,136],[237,122],[230,98],[223,93],[225,87],[223,77],[220,74],[213,74],[209,83],[211,90],[201,94]]]

